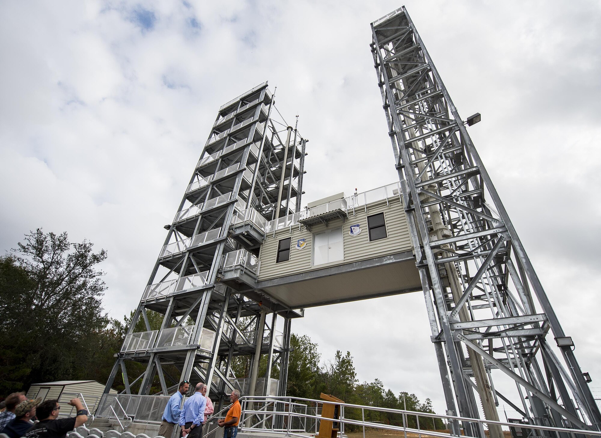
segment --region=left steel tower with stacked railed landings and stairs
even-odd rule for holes
[[[290,319],[301,315],[220,283],[228,263],[252,268],[263,238],[257,224],[300,209],[308,140],[278,115],[267,82],[219,109],[177,214],[165,226],[165,244],[105,392],[118,371],[127,394],[138,381],[138,393],[149,394],[156,375],[164,395],[192,378],[210,386],[219,407],[231,389],[272,394],[271,365],[279,362],[279,389],[273,395],[285,394]],[[163,315],[159,330],[151,329],[148,310]],[[282,334],[276,332],[278,316],[284,318]],[[140,319],[146,331],[136,333]],[[255,391],[261,354],[268,355],[268,366],[262,390]],[[253,375],[243,382],[246,387],[232,369],[240,355],[251,356]],[[146,367],[132,382],[127,361]],[[167,367],[171,374],[166,365],[172,365]]]

